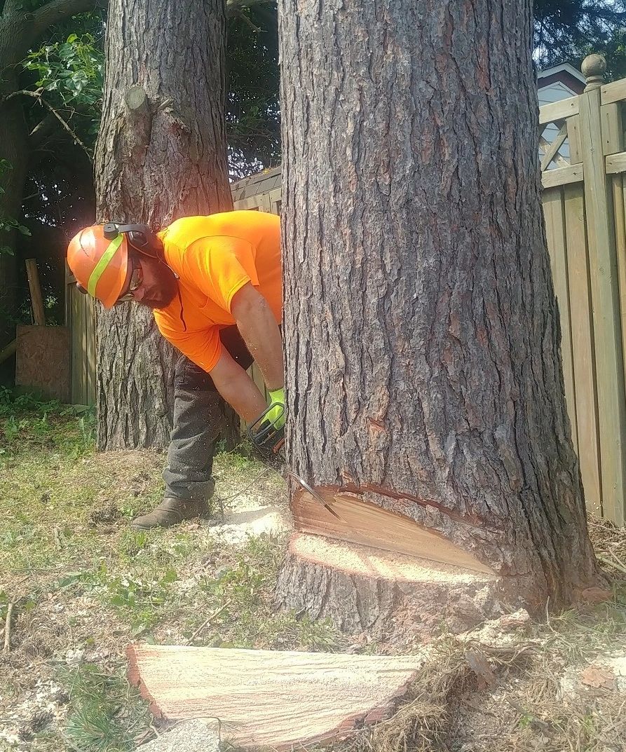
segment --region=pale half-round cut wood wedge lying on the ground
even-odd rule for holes
[[[345,738],[394,711],[423,661],[130,645],[129,681],[166,720],[217,717],[223,737],[288,750]]]

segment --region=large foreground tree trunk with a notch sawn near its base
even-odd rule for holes
[[[279,600],[350,629],[415,607],[423,575],[366,575],[356,542],[433,559],[439,618],[466,596],[469,621],[566,605],[597,570],[542,226],[531,2],[281,0],[280,17],[289,462],[343,522],[293,484],[296,530],[318,537],[292,541]],[[330,556],[321,535],[348,543]],[[460,567],[482,580],[459,599]]]

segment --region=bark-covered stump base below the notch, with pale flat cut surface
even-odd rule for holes
[[[462,632],[502,614],[497,578],[486,572],[296,533],[277,600],[345,632],[422,636],[446,626]]]

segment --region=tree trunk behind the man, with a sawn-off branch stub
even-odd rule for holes
[[[112,0],[96,150],[99,221],[160,229],[232,209],[224,0]],[[141,89],[131,86],[141,86]],[[172,347],[137,305],[98,316],[99,447],[166,447]]]

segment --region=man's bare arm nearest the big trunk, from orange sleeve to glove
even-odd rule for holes
[[[230,312],[270,392],[284,386],[283,343],[266,299],[250,283],[232,299]],[[211,372],[211,376],[212,376]]]

